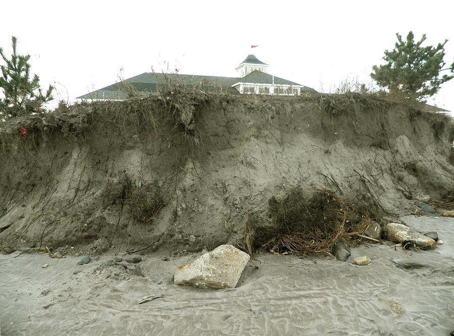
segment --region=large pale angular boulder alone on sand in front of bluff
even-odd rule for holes
[[[178,267],[174,283],[208,289],[235,288],[249,259],[249,254],[236,247],[221,245]]]

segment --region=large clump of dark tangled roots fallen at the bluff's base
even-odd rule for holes
[[[301,188],[272,196],[266,209],[252,211],[246,219],[245,249],[272,253],[330,254],[337,241],[349,242],[362,234],[377,216],[367,204],[350,202],[329,190],[311,196]]]

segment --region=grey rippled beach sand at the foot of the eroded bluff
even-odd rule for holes
[[[107,252],[86,265],[77,264],[80,257],[1,255],[1,332],[447,335],[454,324],[454,218],[402,219],[437,231],[444,244],[435,251],[368,244],[347,262],[265,253],[249,262],[237,288],[226,290],[173,284],[175,269],[197,254],[158,250],[132,264]],[[369,265],[352,264],[363,255]],[[163,297],[138,304],[147,295]]]

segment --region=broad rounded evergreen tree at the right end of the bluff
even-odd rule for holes
[[[398,42],[391,51],[386,50],[383,60],[385,65],[373,66],[370,74],[378,85],[388,88],[390,93],[403,93],[406,98],[416,100],[432,96],[438,92],[440,85],[454,76],[446,75],[439,77],[440,71],[450,70],[454,72],[454,63],[448,69],[442,69],[445,65],[444,45],[447,42],[438,43],[436,47],[431,45],[421,46],[426,35],[415,42],[413,32],[409,32],[407,40],[396,34]]]

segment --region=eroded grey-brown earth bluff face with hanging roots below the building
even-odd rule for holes
[[[13,119],[0,125],[0,242],[244,247],[248,213],[295,187],[410,213],[413,191],[454,189],[453,134],[447,116],[354,94],[176,90]]]

